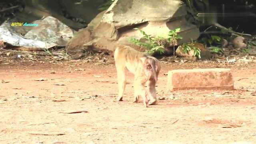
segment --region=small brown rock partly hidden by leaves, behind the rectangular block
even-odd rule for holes
[[[194,50],[190,50],[190,51],[188,51],[188,54],[185,54],[182,46],[183,45],[178,46],[178,48],[176,49],[175,52],[176,52],[177,56],[184,57],[186,60],[190,60],[190,61],[198,60],[198,58],[196,56],[194,56]],[[193,43],[193,46],[195,48],[199,48],[201,50],[201,54],[200,54],[201,60],[207,60],[207,59],[212,58],[211,52],[209,50],[207,50],[203,44],[195,42],[195,43]]]

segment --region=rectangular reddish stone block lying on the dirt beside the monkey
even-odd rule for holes
[[[230,69],[208,68],[168,72],[167,90],[233,90]]]

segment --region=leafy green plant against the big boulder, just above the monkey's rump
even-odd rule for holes
[[[139,30],[140,33],[143,35],[142,39],[145,38],[148,42],[140,42],[140,40],[136,38],[130,38],[129,42],[137,45],[137,46],[143,46],[147,48],[146,52],[148,54],[153,54],[154,52],[158,52],[160,54],[164,53],[164,46],[158,45],[157,40],[162,37],[152,37],[151,35],[146,34],[143,30],[140,30],[138,28],[134,28],[135,30]]]

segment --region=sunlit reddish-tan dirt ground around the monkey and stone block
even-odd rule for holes
[[[0,64],[1,144],[256,144],[256,63],[161,64],[158,105],[116,102],[114,64]],[[233,91],[166,92],[168,70],[230,68]],[[69,112],[87,111],[68,114]]]

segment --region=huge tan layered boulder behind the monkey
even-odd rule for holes
[[[186,6],[181,0],[115,0],[106,10],[96,16],[88,27],[81,33],[90,31],[91,41],[84,42],[79,34],[72,38],[67,46],[68,52],[76,49],[91,47],[92,49],[113,51],[116,44],[131,45],[130,37],[142,38],[142,34],[133,28],[140,28],[152,36],[167,36],[171,29],[181,28],[179,33],[183,37],[178,42],[189,42],[199,36],[196,26],[185,20]],[[72,41],[80,39],[81,42]],[[84,38],[89,40],[90,38]]]

